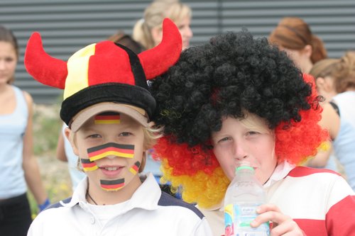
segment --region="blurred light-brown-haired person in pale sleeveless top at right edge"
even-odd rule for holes
[[[325,98],[321,124],[329,130],[332,147],[344,168],[344,174],[355,190],[355,53],[346,52],[341,59],[317,62],[310,74],[315,77],[317,91]],[[307,164],[322,167],[329,151],[320,152]]]

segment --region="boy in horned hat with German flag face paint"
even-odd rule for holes
[[[64,89],[60,117],[87,177],[71,198],[40,213],[28,235],[212,235],[200,210],[160,191],[153,174],[139,174],[160,136],[147,79],[165,72],[180,52],[181,36],[169,19],[162,43],[138,55],[103,41],[63,62],[45,53],[38,33],[31,35],[26,69]]]

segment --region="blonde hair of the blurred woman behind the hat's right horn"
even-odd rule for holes
[[[143,19],[136,22],[133,27],[132,37],[141,43],[146,50],[155,46],[151,30],[162,27],[163,19],[170,18],[175,24],[184,18],[192,16],[190,6],[179,1],[153,1],[144,11]]]

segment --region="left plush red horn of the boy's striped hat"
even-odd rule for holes
[[[28,40],[24,62],[28,74],[38,82],[58,89],[65,88],[67,62],[50,57],[43,50],[42,40],[37,32]]]

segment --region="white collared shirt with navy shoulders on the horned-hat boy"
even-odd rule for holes
[[[84,179],[68,203],[58,203],[40,213],[28,235],[212,235],[202,213],[162,193],[152,174],[129,201],[114,206],[87,203],[86,189]]]

